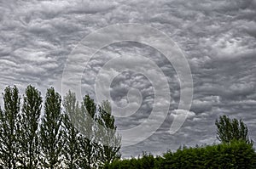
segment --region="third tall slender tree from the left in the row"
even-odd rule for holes
[[[47,90],[44,103],[44,117],[40,126],[40,140],[43,168],[62,168],[61,149],[62,140],[62,117],[61,96],[53,87]]]

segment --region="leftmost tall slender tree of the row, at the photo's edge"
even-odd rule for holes
[[[4,110],[0,110],[0,163],[3,168],[15,169],[17,162],[17,128],[20,96],[17,87],[6,87],[3,93]]]

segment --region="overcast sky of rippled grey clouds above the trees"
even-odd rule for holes
[[[0,90],[16,85],[22,93],[32,84],[43,95],[51,86],[61,92],[63,72],[68,70],[71,76],[79,76],[80,94],[96,99],[96,77],[111,60],[114,64],[107,64],[110,70],[118,65],[119,69],[130,68],[113,70],[112,74],[106,70],[107,75],[103,75],[105,82],[114,75],[104,91],[110,93],[113,103],[121,108],[130,105],[128,110],[115,113],[117,127],[128,131],[145,121],[152,122],[152,126],[143,126],[147,137],[142,132],[123,136],[135,143],[122,147],[123,157],[137,156],[143,151],[161,155],[183,144],[216,144],[214,122],[219,115],[242,119],[250,138],[256,141],[255,8],[255,0],[0,0]],[[149,26],[175,42],[193,79],[189,110],[177,113],[181,91],[186,88],[181,86],[175,66],[153,46],[137,41],[113,42],[84,63],[84,57],[94,48],[86,47],[86,42],[85,47],[81,45],[84,37],[106,26],[125,23]],[[112,30],[94,39],[93,44],[122,37],[115,31],[125,29]],[[147,33],[141,32],[138,37]],[[155,44],[166,45],[157,41]],[[73,62],[68,65],[70,60]],[[180,69],[185,66],[178,65]],[[72,79],[66,80],[76,85]],[[155,102],[158,95],[154,92],[165,85],[171,99]],[[168,110],[162,112],[166,105]],[[159,109],[150,119],[155,107]],[[179,115],[187,116],[182,127],[171,134],[172,122]],[[152,132],[150,129],[159,121],[159,127]]]

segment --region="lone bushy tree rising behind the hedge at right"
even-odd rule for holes
[[[253,140],[248,138],[247,126],[241,119],[230,119],[227,115],[222,115],[215,121],[217,138],[223,143],[230,143],[233,140],[243,140],[247,144],[253,144]]]

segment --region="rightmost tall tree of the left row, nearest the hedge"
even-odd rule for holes
[[[102,137],[102,144],[99,147],[99,156],[102,164],[109,164],[120,158],[121,137],[116,133],[114,117],[111,115],[111,105],[108,100],[103,101],[99,106],[98,124],[108,130],[100,130],[99,136]]]

